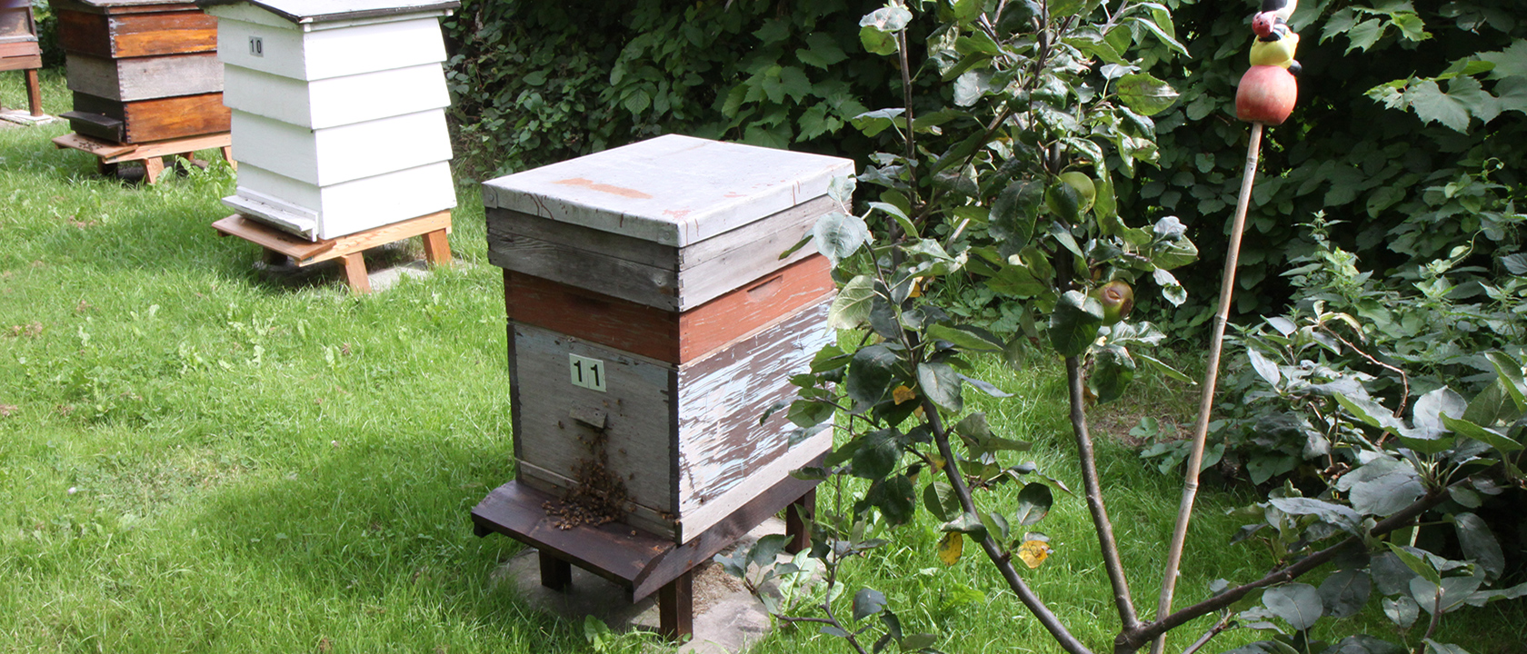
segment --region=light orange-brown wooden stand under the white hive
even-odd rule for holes
[[[350,282],[350,290],[357,294],[371,293],[371,281],[366,279],[366,262],[362,253],[373,247],[421,236],[426,261],[432,265],[450,264],[450,242],[447,239],[450,212],[447,210],[322,241],[307,241],[240,213],[212,223],[212,229],[220,236],[238,236],[263,247],[267,262],[282,262],[290,258],[298,267],[308,267],[341,259],[345,264],[345,279]]]

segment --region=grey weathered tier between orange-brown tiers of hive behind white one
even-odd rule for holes
[[[223,90],[215,52],[131,59],[70,55],[66,64],[69,90],[124,102]]]

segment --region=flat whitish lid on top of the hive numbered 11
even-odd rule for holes
[[[483,203],[684,247],[828,192],[854,162],[660,136],[483,184]]]

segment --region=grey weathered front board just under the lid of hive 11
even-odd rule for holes
[[[582,247],[504,232],[501,226],[501,221],[487,224],[489,262],[499,268],[664,311],[678,309],[678,273],[673,268],[602,256]]]

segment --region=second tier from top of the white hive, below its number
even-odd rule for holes
[[[228,66],[226,78],[229,108],[315,130],[450,107],[440,64],[312,82]]]

